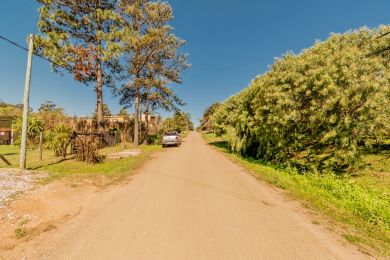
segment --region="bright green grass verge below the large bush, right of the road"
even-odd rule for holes
[[[299,174],[293,169],[231,154],[214,134],[203,134],[203,138],[261,180],[286,190],[292,197],[325,214],[345,230],[346,240],[363,251],[390,256],[390,197],[386,194],[389,179],[383,177],[384,181],[380,181],[373,174],[378,167],[388,169],[390,164],[384,157],[367,155],[364,159],[371,162],[371,168],[353,176]]]

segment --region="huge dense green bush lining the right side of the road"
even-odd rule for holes
[[[373,55],[386,39],[377,35],[367,28],[334,34],[277,59],[217,109],[214,131],[233,152],[302,170],[359,166],[359,144],[390,133],[388,60]]]

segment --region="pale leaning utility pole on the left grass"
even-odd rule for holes
[[[26,149],[27,149],[27,127],[28,127],[28,110],[30,100],[30,80],[31,80],[31,66],[34,52],[33,35],[28,37],[28,58],[27,58],[27,72],[26,82],[24,85],[24,99],[23,99],[23,125],[22,125],[22,143],[20,146],[20,169],[26,169]]]

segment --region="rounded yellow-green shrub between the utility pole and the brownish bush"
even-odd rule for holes
[[[46,136],[46,147],[54,151],[58,157],[66,158],[68,146],[71,144],[72,128],[66,125],[59,125],[48,132]]]

